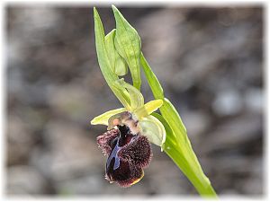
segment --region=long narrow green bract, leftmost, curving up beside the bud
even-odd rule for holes
[[[130,97],[126,89],[121,88],[121,86],[118,86],[121,89],[120,91],[118,91],[112,87],[112,84],[119,78],[112,72],[112,66],[110,64],[110,60],[105,48],[103,23],[101,22],[100,16],[95,8],[94,8],[94,36],[95,36],[95,47],[98,63],[103,73],[103,76],[106,82],[108,83],[109,87],[112,89],[112,92],[115,94],[118,100],[121,101],[122,105],[128,106],[130,103]]]

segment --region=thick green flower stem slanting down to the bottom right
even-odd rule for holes
[[[210,180],[204,175],[200,162],[193,152],[184,124],[173,104],[164,98],[163,90],[150,66],[141,54],[141,65],[156,99],[164,101],[159,108],[162,116],[156,116],[166,128],[165,152],[177,164],[184,175],[203,197],[217,197]]]

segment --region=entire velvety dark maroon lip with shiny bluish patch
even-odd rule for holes
[[[123,125],[97,137],[103,153],[108,155],[105,179],[129,187],[142,179],[143,168],[148,166],[152,151],[148,138],[132,135],[130,128]]]

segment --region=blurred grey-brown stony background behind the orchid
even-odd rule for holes
[[[180,112],[220,195],[264,193],[263,16],[253,7],[120,7]],[[112,9],[98,7],[106,32]],[[90,120],[121,107],[100,72],[93,7],[5,6],[8,196],[197,195],[153,145],[129,189],[104,180],[106,158]],[[143,77],[145,100],[152,94]]]

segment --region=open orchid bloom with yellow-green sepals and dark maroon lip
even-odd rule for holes
[[[97,144],[108,156],[105,179],[129,187],[142,179],[143,168],[152,157],[151,146],[161,146],[166,140],[162,123],[150,115],[162,106],[155,100],[144,104],[142,94],[123,80],[118,81],[130,92],[130,105],[110,110],[91,121],[92,125],[106,125],[107,132],[97,137]]]

